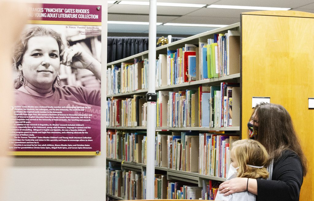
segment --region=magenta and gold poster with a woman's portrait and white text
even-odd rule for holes
[[[9,155],[99,155],[101,6],[29,4],[16,42]]]

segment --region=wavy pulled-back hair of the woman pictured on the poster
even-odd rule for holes
[[[58,43],[59,54],[61,54],[65,48],[65,45],[59,33],[55,32],[54,30],[50,28],[44,28],[41,26],[32,27],[26,30],[24,34],[22,34],[20,40],[15,45],[14,52],[13,52],[13,61],[14,61],[14,68],[17,71],[19,71],[19,65],[22,64],[24,53],[27,50],[28,41],[30,40],[30,38],[35,37],[35,36],[50,36],[54,38]],[[62,61],[62,56],[60,56],[60,61]],[[22,84],[19,82],[19,78],[15,79],[14,88],[18,89],[21,86]]]

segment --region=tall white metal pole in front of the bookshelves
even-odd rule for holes
[[[149,42],[148,42],[148,93],[147,100],[147,159],[146,159],[146,199],[154,199],[155,174],[155,129],[156,129],[156,100],[155,71],[156,71],[156,22],[157,1],[149,1]],[[156,100],[155,100],[156,98]]]

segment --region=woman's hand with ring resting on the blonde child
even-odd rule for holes
[[[219,192],[224,194],[224,196],[230,195],[232,193],[239,193],[246,191],[247,178],[236,177],[227,180],[219,185]]]

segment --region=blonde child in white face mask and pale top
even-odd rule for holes
[[[233,167],[238,167],[237,177],[267,179],[269,173],[264,165],[268,161],[268,153],[265,147],[252,139],[238,140],[232,144],[230,152],[230,161]],[[246,191],[233,193],[228,196],[220,194],[219,191],[215,200],[237,201],[248,200],[255,201],[256,197],[253,193]]]

